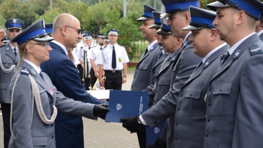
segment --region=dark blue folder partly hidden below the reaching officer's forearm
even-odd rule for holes
[[[146,145],[153,146],[156,139],[160,136],[162,130],[165,127],[166,120],[160,123],[158,126],[154,128],[150,128],[149,126],[145,127],[146,129]]]

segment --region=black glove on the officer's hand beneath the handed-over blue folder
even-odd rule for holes
[[[140,124],[137,118],[138,117],[123,117],[120,118],[120,121],[122,122],[123,128],[126,128],[131,132],[138,132],[141,131],[145,126]]]

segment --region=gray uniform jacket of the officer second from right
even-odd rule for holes
[[[228,45],[225,44],[209,56],[181,88],[175,112],[173,148],[203,148],[207,110],[204,98],[207,85],[220,67],[222,55],[227,49]]]

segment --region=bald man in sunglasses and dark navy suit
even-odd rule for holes
[[[67,49],[76,47],[80,35],[78,19],[69,14],[59,15],[53,24],[50,59],[40,67],[49,75],[57,90],[75,100],[101,104],[103,101],[88,95],[81,83],[74,63],[67,57]],[[55,133],[56,148],[84,148],[82,118],[58,112]]]

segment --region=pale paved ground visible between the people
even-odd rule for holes
[[[123,90],[130,90],[133,71],[127,74]],[[106,123],[83,118],[85,148],[139,148],[136,133],[124,129],[121,123]],[[0,148],[3,148],[3,123],[0,117]]]

